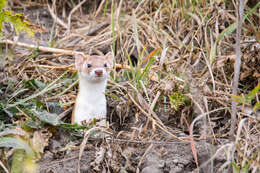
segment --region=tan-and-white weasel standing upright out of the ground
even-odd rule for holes
[[[96,118],[101,120],[99,125],[106,124],[105,90],[112,65],[112,53],[103,56],[75,55],[79,92],[72,113],[72,123],[82,124],[82,121],[88,122]]]

